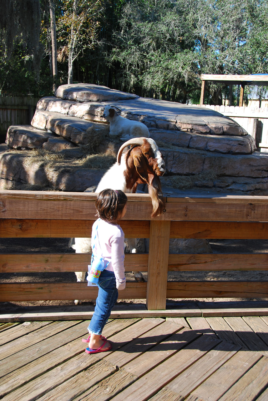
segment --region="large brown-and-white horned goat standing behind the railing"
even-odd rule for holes
[[[124,154],[123,150],[131,146]],[[133,138],[125,142],[118,151],[117,162],[104,174],[96,192],[106,188],[120,189],[125,193],[135,193],[138,184],[148,184],[148,191],[152,198],[152,217],[160,215],[164,209],[164,202],[160,198],[161,183],[159,176],[166,171],[165,162],[158,146],[151,138]],[[136,239],[129,238],[130,253],[136,253]],[[76,253],[90,253],[90,238],[75,238],[72,246]],[[85,272],[76,272],[77,281],[84,281]],[[134,272],[136,281],[144,281],[140,271]],[[77,305],[81,303],[75,300]]]

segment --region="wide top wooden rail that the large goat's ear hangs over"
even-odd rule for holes
[[[95,219],[96,194],[90,192],[82,192],[79,196],[72,192],[6,192],[0,193],[0,219],[39,220],[46,216],[49,220]],[[149,195],[128,194],[128,201],[130,205],[124,220],[150,219],[152,203]],[[265,196],[167,198],[165,212],[153,220],[267,222],[267,204]]]

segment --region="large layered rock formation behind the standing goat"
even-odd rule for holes
[[[166,162],[167,173],[162,177],[165,186],[172,186],[170,177],[194,176],[192,182],[197,188],[268,194],[268,154],[255,152],[254,138],[231,118],[207,108],[142,98],[92,84],[61,85],[55,96],[40,99],[31,126],[9,128],[6,144],[21,154],[16,156],[17,170],[12,172],[8,166],[11,158],[6,154],[10,152],[2,151],[0,162],[5,167],[0,187],[15,188],[16,182],[34,184],[35,176],[39,184],[42,169],[44,186],[54,189],[83,191],[96,185],[106,167],[81,169],[74,159],[82,157],[81,146],[88,146],[96,136],[104,138],[98,152],[116,154],[122,141],[109,140],[109,124],[102,117],[106,105],[148,127]],[[27,150],[33,149],[62,155],[62,165],[32,160],[31,168],[35,166],[38,173],[28,178],[27,163],[23,166],[22,160]]]

